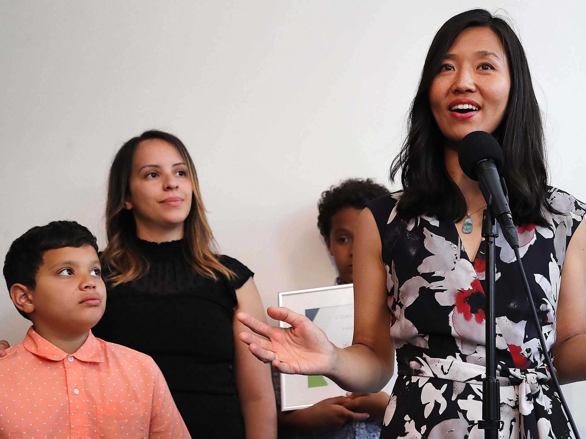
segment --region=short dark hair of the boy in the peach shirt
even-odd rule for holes
[[[47,250],[83,245],[91,245],[98,251],[96,236],[75,221],[52,221],[29,229],[12,242],[6,253],[4,279],[8,292],[15,283],[36,287],[36,274]],[[18,312],[30,320],[24,311]]]

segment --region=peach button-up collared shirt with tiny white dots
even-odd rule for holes
[[[0,358],[0,438],[190,438],[153,359],[91,334],[67,354],[29,328]]]

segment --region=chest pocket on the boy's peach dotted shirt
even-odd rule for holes
[[[96,404],[99,437],[147,438],[148,419],[144,404],[134,401]]]

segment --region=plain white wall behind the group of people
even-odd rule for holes
[[[473,6],[515,20],[547,114],[551,181],[586,199],[580,0],[0,0],[0,255],[65,218],[103,247],[114,152],[159,128],[188,145],[217,241],[254,270],[265,306],[332,284],[319,194],[346,177],[388,184],[432,36]],[[0,293],[0,338],[15,343],[28,321]],[[586,386],[565,388],[583,411]]]

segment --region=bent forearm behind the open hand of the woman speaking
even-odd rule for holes
[[[331,373],[326,376],[349,392],[379,392],[391,379],[394,351],[382,359],[363,344],[336,348]]]

